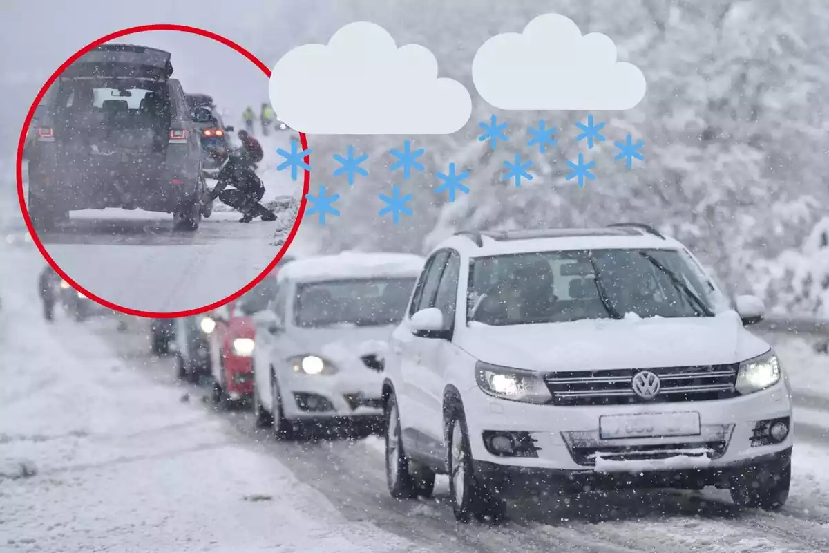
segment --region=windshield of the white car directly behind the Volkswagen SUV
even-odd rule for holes
[[[415,279],[347,279],[298,284],[294,323],[381,326],[400,323]]]

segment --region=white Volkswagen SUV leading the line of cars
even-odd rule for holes
[[[652,227],[461,233],[429,256],[386,360],[395,497],[450,475],[459,521],[585,489],[786,502],[788,377],[759,322]]]

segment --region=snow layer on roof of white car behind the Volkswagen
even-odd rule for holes
[[[423,269],[419,255],[385,252],[343,252],[293,260],[279,271],[279,279],[300,282],[371,277],[417,277]]]

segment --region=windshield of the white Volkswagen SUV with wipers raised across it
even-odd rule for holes
[[[473,260],[469,321],[710,317],[715,287],[681,250],[567,250]]]

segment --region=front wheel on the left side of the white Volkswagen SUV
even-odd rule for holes
[[[473,517],[478,521],[502,521],[507,514],[507,502],[475,477],[463,409],[454,407],[447,422],[449,495],[455,519],[463,523]]]

